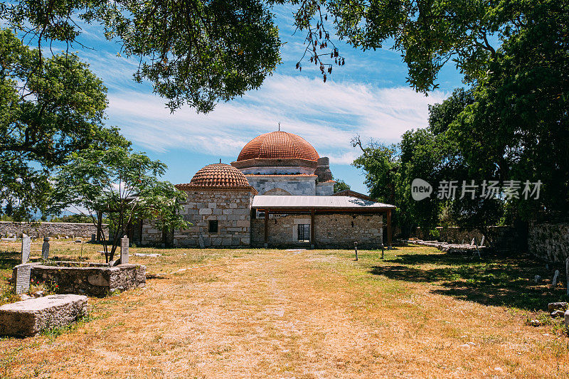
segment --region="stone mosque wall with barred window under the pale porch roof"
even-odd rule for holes
[[[269,218],[269,247],[310,247],[299,242],[299,224],[310,225],[310,215],[285,215]],[[252,220],[251,244],[263,247],[265,219]],[[302,228],[302,227],[301,227]],[[330,213],[314,215],[314,247],[351,249],[358,242],[361,249],[378,249],[383,240],[382,215]]]

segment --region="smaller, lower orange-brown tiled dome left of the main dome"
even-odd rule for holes
[[[228,164],[208,164],[191,178],[190,183],[177,184],[176,188],[250,188],[241,171]]]

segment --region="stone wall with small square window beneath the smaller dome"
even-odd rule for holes
[[[182,203],[184,219],[191,223],[186,229],[174,230],[166,237],[174,246],[247,247],[250,245],[249,190],[186,190]],[[215,224],[217,230],[215,229]],[[213,228],[213,229],[212,229]],[[142,245],[161,245],[164,235],[154,223],[142,225]]]

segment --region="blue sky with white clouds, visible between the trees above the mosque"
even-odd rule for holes
[[[234,161],[240,149],[259,134],[277,130],[304,137],[320,156],[329,156],[336,178],[355,191],[367,193],[363,174],[350,166],[358,151],[350,140],[356,134],[366,141],[398,142],[408,129],[425,127],[427,106],[442,101],[461,75],[449,64],[440,73],[440,90],[428,97],[413,91],[405,82],[406,66],[389,46],[376,51],[356,50],[337,43],[346,64],[335,67],[326,83],[314,65],[295,70],[304,51],[304,33],[294,34],[290,7],[277,6],[275,20],[280,28],[282,64],[265,80],[260,90],[219,104],[209,114],[191,108],[170,114],[166,100],[153,95],[151,85],[137,84],[132,73],[136,58],[119,58],[119,45],[106,41],[102,29],[85,26],[80,42],[94,50],[73,46],[90,69],[108,88],[107,124],[120,127],[134,149],[168,165],[164,176],[172,183],[187,183],[206,164]]]

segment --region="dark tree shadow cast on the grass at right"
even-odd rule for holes
[[[417,254],[401,255],[385,263],[369,272],[390,279],[437,284],[440,287],[432,290],[435,294],[484,305],[536,310],[546,309],[549,302],[566,301],[564,288],[553,289],[549,281],[533,281],[536,274],[548,279],[553,272],[526,258],[478,260],[459,255]]]

